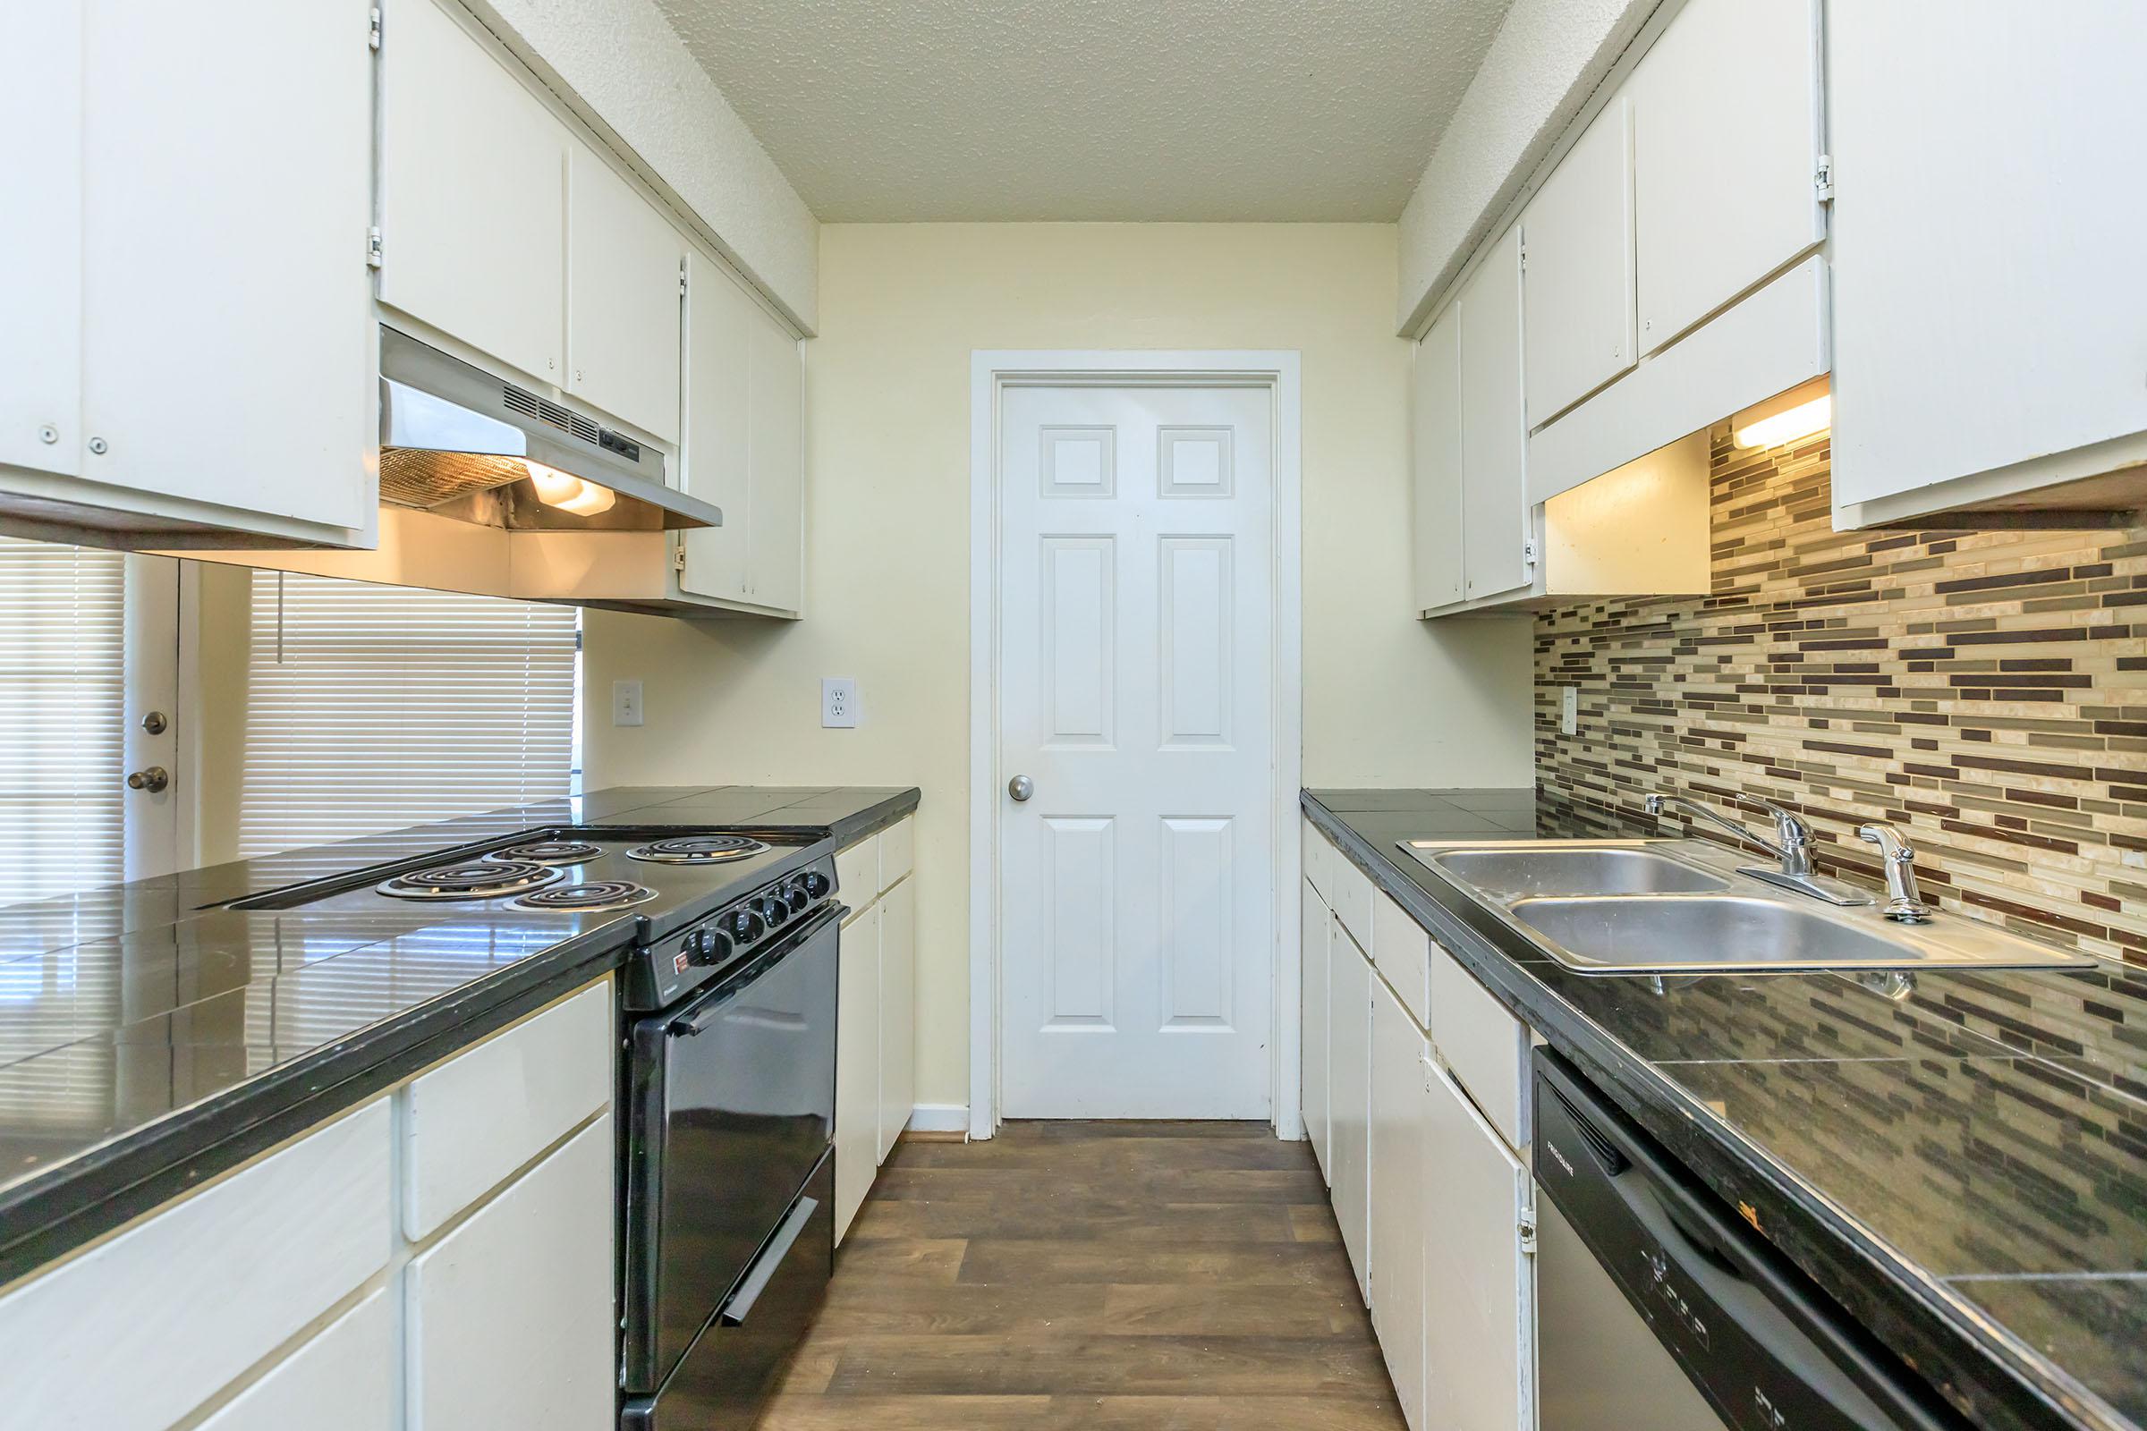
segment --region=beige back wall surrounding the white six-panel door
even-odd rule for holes
[[[1411,620],[1393,225],[827,225],[807,611],[588,614],[588,783],[919,785],[919,1079],[968,1092],[968,382],[977,348],[1303,363],[1310,785],[1527,785],[1527,622]],[[861,725],[820,729],[820,676]],[[646,725],[610,687],[646,682]]]

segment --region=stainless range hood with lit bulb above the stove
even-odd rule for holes
[[[509,532],[721,526],[663,453],[408,333],[380,328],[380,502]]]

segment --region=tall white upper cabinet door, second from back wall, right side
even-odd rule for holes
[[[1475,601],[1529,584],[1518,225],[1490,247],[1460,307],[1462,594]]]

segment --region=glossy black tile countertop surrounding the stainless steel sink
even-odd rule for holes
[[[2147,1427],[2147,970],[1574,974],[1398,850],[1647,835],[1529,790],[1303,809],[1980,1427]]]

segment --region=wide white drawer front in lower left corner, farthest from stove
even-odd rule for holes
[[[0,1427],[167,1427],[230,1386],[386,1266],[389,1152],[376,1098],[0,1296]]]

